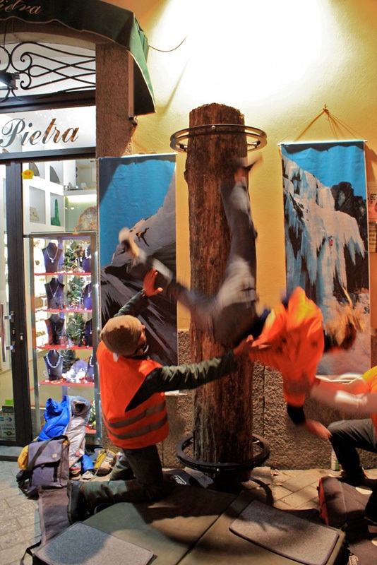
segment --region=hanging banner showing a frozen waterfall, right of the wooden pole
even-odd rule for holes
[[[280,152],[287,292],[302,287],[325,322],[349,295],[366,331],[349,352],[323,355],[318,374],[363,373],[371,355],[364,141],[282,143]]]

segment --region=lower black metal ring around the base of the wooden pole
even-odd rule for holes
[[[220,473],[220,472],[237,472],[241,470],[253,469],[260,467],[270,456],[270,444],[261,436],[253,434],[253,445],[261,448],[261,453],[256,457],[243,461],[242,463],[207,463],[198,459],[193,459],[184,453],[184,450],[193,443],[193,436],[186,436],[176,445],[176,457],[178,460],[190,469],[201,472]]]

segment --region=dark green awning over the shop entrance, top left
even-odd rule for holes
[[[136,115],[155,112],[147,67],[148,40],[133,12],[101,0],[28,0],[1,6],[0,21],[59,23],[78,32],[91,32],[126,47],[133,57]]]

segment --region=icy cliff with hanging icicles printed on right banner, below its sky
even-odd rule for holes
[[[347,182],[324,186],[285,155],[282,170],[287,292],[304,288],[326,321],[333,315],[334,304],[345,301],[345,288],[354,303],[361,304],[369,328],[366,201],[354,196]],[[369,367],[367,329],[350,352],[324,355],[318,373],[362,373]]]

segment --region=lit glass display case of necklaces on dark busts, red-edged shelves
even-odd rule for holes
[[[53,400],[61,400],[68,389],[81,388],[79,394],[90,400],[96,414],[96,428],[86,431],[101,437],[95,363],[100,319],[97,234],[53,232],[30,234],[29,238],[36,418],[47,400],[44,387],[48,387],[44,390]],[[76,345],[81,340],[82,345]],[[61,378],[82,378],[84,374],[90,380],[71,382]]]

